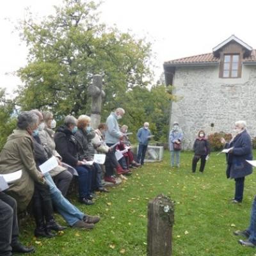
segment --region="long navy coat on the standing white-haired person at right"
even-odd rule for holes
[[[232,153],[227,154],[227,178],[241,178],[252,173],[252,165],[245,160],[252,160],[252,139],[248,132],[237,134],[234,140],[225,145],[225,148],[233,148]]]

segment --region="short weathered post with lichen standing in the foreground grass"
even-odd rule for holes
[[[172,256],[174,204],[164,195],[148,202],[148,256]]]

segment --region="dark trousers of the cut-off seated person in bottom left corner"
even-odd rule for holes
[[[18,241],[17,204],[11,196],[0,192],[0,255],[12,255],[12,246]]]

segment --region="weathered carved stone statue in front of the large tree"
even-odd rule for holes
[[[102,90],[102,76],[93,76],[93,83],[88,87],[88,95],[92,97],[91,125],[93,129],[97,129],[100,124],[102,98],[105,97],[105,92]]]

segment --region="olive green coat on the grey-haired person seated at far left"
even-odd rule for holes
[[[6,190],[15,198],[19,211],[28,206],[33,193],[34,182],[44,182],[36,168],[33,154],[33,141],[25,130],[13,130],[0,153],[0,173],[12,173],[22,170],[22,176]]]

